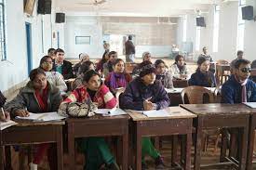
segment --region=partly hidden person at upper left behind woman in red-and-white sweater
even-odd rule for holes
[[[83,77],[86,72],[90,70],[95,70],[93,62],[90,60],[85,61],[78,69],[78,76],[75,78],[74,82],[71,84],[71,90],[83,85]]]

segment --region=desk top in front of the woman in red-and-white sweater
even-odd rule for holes
[[[67,118],[67,123],[81,123],[81,122],[93,122],[93,121],[108,121],[108,120],[120,120],[126,119],[128,120],[130,117],[127,115],[118,115],[118,116],[102,116],[100,114],[96,114],[92,117],[84,117],[84,118]]]

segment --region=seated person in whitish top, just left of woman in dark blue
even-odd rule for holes
[[[182,55],[175,57],[175,62],[170,66],[170,71],[174,78],[183,79],[188,77],[188,70]]]

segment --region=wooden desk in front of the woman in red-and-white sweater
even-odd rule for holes
[[[90,118],[69,118],[68,152],[70,169],[74,169],[74,138],[76,137],[122,137],[122,169],[128,169],[128,115],[103,117],[95,115]]]

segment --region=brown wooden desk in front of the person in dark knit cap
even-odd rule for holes
[[[169,117],[149,118],[137,112],[130,112],[134,125],[136,139],[136,170],[141,170],[141,137],[159,137],[171,135],[186,135],[185,164],[184,169],[190,169],[191,144],[192,144],[192,120],[195,114],[185,111],[180,107],[169,107]]]

